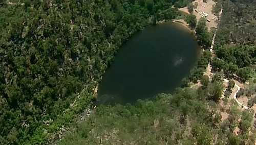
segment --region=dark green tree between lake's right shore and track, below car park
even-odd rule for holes
[[[206,27],[206,19],[201,17],[198,21],[196,27],[196,36],[198,39],[198,43],[205,48],[210,47],[211,45],[211,37]]]

